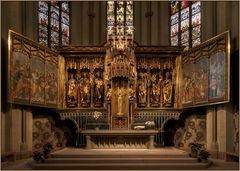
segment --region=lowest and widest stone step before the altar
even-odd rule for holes
[[[34,170],[204,170],[208,163],[35,163]]]

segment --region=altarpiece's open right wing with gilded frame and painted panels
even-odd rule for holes
[[[230,32],[207,40],[182,54],[183,108],[230,100]]]

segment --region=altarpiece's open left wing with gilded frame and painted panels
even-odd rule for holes
[[[53,49],[9,30],[8,102],[57,108],[59,55]]]

